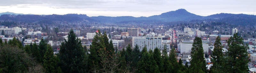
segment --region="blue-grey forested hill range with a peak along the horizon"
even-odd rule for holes
[[[3,14],[3,15],[1,15]],[[0,13],[0,20],[18,21],[18,22],[42,22],[51,24],[53,21],[86,21],[86,22],[98,22],[98,23],[162,23],[162,22],[176,22],[176,21],[191,21],[191,20],[213,20],[220,22],[227,22],[235,25],[255,25],[256,16],[247,14],[230,14],[219,13],[210,16],[199,16],[188,12],[185,9],[178,9],[176,11],[169,11],[160,15],[153,15],[149,17],[132,17],[132,16],[120,16],[120,17],[108,17],[97,16],[88,17],[86,14],[66,14],[66,15],[24,15],[12,12]]]

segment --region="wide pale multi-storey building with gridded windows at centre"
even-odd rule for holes
[[[132,37],[132,47],[134,48],[138,45],[140,51],[142,51],[143,47],[146,46],[147,50],[152,50],[157,47],[159,49],[164,49],[164,45],[167,47],[167,51],[170,49],[170,44],[162,43],[162,37]]]

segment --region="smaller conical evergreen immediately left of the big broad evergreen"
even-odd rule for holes
[[[44,54],[44,71],[46,73],[56,73],[58,70],[56,70],[57,67],[57,58],[53,55],[53,50],[50,45],[47,45],[46,52]]]

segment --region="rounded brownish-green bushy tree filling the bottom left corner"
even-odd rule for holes
[[[34,64],[33,59],[18,47],[0,47],[0,69],[3,73],[28,72]]]

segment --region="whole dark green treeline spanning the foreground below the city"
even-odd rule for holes
[[[191,48],[190,65],[183,65],[177,60],[175,49],[167,54],[164,47],[140,52],[136,45],[130,45],[117,51],[112,40],[108,42],[107,34],[96,33],[90,49],[83,47],[73,30],[68,40],[60,46],[60,53],[53,55],[53,50],[44,39],[39,45],[25,47],[16,38],[4,43],[0,39],[0,72],[46,72],[46,73],[244,73],[248,72],[247,48],[240,36],[235,34],[228,40],[228,52],[222,53],[220,37],[214,44],[213,66],[206,69],[202,40],[196,37]]]

